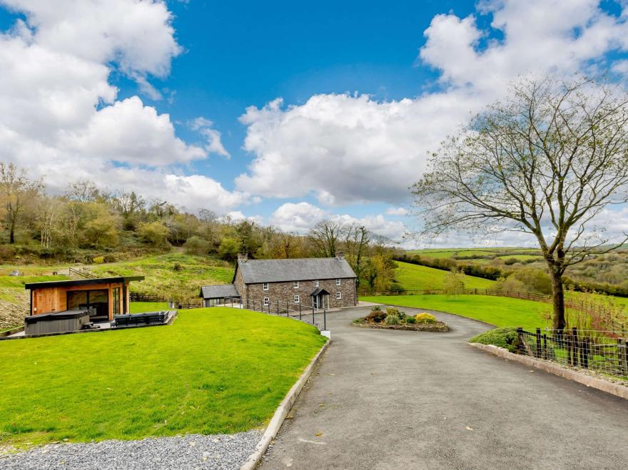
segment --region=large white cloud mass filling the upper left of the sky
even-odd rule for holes
[[[116,101],[114,68],[152,98],[150,76],[166,76],[181,52],[161,0],[0,0],[23,13],[0,33],[0,159],[47,175],[51,190],[88,178],[191,208],[231,210],[248,195],[176,165],[228,155],[220,133],[198,131],[207,144],[177,138],[168,114],[132,96]]]

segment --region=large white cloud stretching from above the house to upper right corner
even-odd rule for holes
[[[617,18],[598,4],[483,1],[480,13],[492,14],[501,41],[487,40],[477,14],[435,16],[420,59],[440,71],[443,91],[400,101],[325,94],[298,106],[275,99],[247,108],[240,121],[253,162],[236,179],[238,188],[278,198],[313,193],[325,204],[405,202],[427,152],[470,113],[502,97],[509,81],[591,71],[609,51],[625,51],[628,14]]]

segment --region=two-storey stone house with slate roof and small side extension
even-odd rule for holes
[[[223,296],[228,292],[228,296]],[[205,286],[201,297],[206,307],[231,302],[243,307],[284,304],[317,308],[353,307],[358,304],[358,279],[343,252],[333,258],[248,260],[238,256],[233,282]],[[239,298],[238,298],[239,297]]]

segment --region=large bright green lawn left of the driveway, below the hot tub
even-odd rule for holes
[[[228,307],[0,342],[0,444],[259,428],[324,342],[305,323]]]

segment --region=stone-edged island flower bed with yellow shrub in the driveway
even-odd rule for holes
[[[449,331],[449,327],[447,327],[445,322],[439,322],[434,315],[429,313],[419,313],[412,317],[393,307],[383,311],[378,306],[373,307],[373,310],[366,317],[353,320],[353,325],[378,329],[405,329],[429,332]]]

